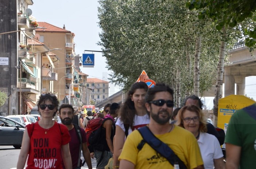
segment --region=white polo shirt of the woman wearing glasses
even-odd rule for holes
[[[203,158],[203,166],[205,169],[213,169],[213,159],[223,157],[218,139],[214,135],[200,132],[197,143]]]

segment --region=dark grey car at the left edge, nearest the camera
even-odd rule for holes
[[[18,121],[0,116],[0,145],[21,148],[25,125]]]

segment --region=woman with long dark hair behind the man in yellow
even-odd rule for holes
[[[125,138],[133,130],[147,125],[150,118],[144,106],[144,98],[148,86],[145,82],[134,83],[125,102],[121,106],[119,118],[116,122],[116,135],[114,140],[113,169],[119,167],[117,160],[123,149]]]

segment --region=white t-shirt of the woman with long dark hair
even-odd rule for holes
[[[129,127],[128,134],[130,134],[135,129],[138,129],[140,127],[143,127],[143,126],[149,124],[149,122],[150,122],[150,118],[149,118],[148,114],[146,114],[144,116],[135,115],[135,117],[133,119],[133,129],[131,127]],[[119,127],[121,127],[121,129],[123,129],[123,131],[125,132],[124,123],[120,118],[118,118],[116,121],[116,126],[117,125]]]

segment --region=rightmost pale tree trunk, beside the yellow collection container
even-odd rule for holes
[[[224,34],[225,36],[225,34]],[[215,97],[213,100],[213,115],[218,116],[218,103],[219,99],[222,98],[222,84],[223,84],[223,73],[224,73],[224,56],[226,50],[226,42],[221,41],[220,46],[220,56],[218,61],[218,75],[217,75],[217,82],[216,82],[216,89],[215,89]],[[215,123],[217,124],[217,123]]]

